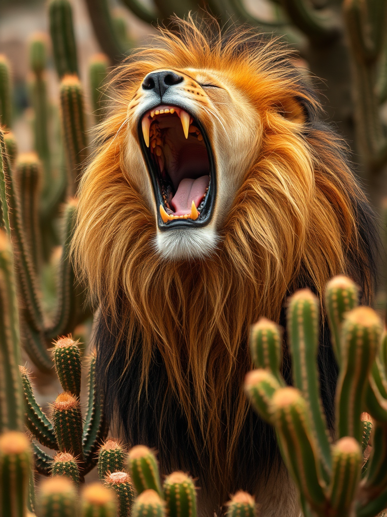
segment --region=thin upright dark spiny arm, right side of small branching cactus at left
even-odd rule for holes
[[[87,415],[82,437],[87,471],[96,464],[96,451],[106,438],[108,431],[103,414],[103,401],[95,386],[95,355],[91,357],[90,362],[88,393]]]

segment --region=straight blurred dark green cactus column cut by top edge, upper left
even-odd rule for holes
[[[50,34],[56,71],[61,79],[78,73],[73,14],[68,0],[51,0],[49,4]]]

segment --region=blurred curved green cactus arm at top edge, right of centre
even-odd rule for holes
[[[289,19],[315,44],[332,41],[340,34],[333,13],[313,8],[308,0],[281,0]]]

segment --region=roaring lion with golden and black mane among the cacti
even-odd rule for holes
[[[296,517],[275,433],[249,407],[250,326],[350,276],[372,297],[376,232],[342,139],[284,44],[174,19],[113,72],[79,189],[73,256],[99,306],[98,383],[131,445],[189,471],[199,514],[230,493]],[[332,425],[337,368],[321,327]],[[283,373],[291,383],[286,344]]]

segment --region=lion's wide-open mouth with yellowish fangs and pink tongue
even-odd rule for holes
[[[180,107],[160,104],[142,116],[139,134],[160,229],[206,224],[214,204],[215,174],[199,121]]]

